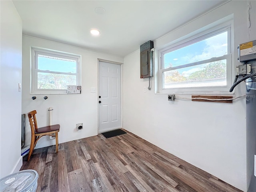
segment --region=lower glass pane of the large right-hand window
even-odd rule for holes
[[[226,59],[163,72],[163,88],[226,86]]]

